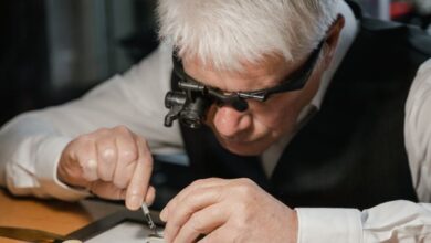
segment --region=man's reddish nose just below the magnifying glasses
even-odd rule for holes
[[[224,137],[232,137],[248,129],[251,124],[251,115],[238,112],[231,106],[218,107],[213,118],[217,131]]]

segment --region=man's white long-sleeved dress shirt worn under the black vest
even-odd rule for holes
[[[347,27],[356,24],[346,22]],[[346,33],[346,36],[351,36],[354,31]],[[339,45],[348,45],[346,40]],[[341,50],[337,54],[338,61],[332,64],[334,71],[347,47],[338,50]],[[171,70],[171,47],[160,45],[126,74],[112,77],[82,98],[25,113],[6,124],[0,130],[0,184],[18,196],[62,200],[86,197],[85,192],[73,190],[57,180],[57,162],[69,141],[101,127],[125,125],[145,137],[155,154],[183,152],[178,123],[171,128],[162,125],[167,113],[164,97],[170,88]],[[325,75],[332,77],[333,74]],[[314,101],[323,98],[327,84],[323,83]],[[318,107],[318,104],[311,105]],[[416,191],[422,202],[430,202],[431,61],[421,66],[410,91],[404,133]],[[287,144],[288,139],[284,142]],[[338,208],[297,208],[296,211],[299,243],[431,242],[429,203],[391,201],[365,211]]]

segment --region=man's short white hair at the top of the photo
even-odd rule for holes
[[[240,71],[266,55],[303,57],[326,34],[339,0],[159,0],[159,36],[181,59]]]

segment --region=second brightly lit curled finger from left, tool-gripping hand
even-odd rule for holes
[[[106,136],[96,142],[97,148],[97,173],[104,181],[113,181],[117,162],[116,139]]]

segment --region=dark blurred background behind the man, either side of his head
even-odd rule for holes
[[[431,32],[431,0],[356,0]],[[156,0],[1,0],[0,125],[78,97],[157,46]]]

